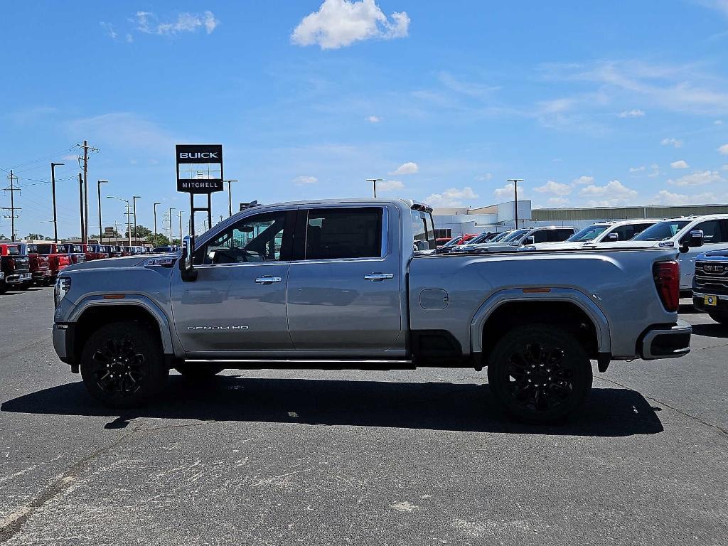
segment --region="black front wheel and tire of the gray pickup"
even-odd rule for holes
[[[88,392],[115,408],[143,404],[164,387],[170,373],[157,334],[131,321],[92,333],[80,364]]]

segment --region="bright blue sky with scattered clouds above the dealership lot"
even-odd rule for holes
[[[4,14],[0,168],[20,176],[21,236],[52,232],[50,161],[66,163],[60,234],[79,233],[84,138],[100,149],[92,226],[98,178],[142,196],[138,223],[155,201],[186,209],[175,143],[222,143],[234,202],[365,196],[373,177],[433,205],[506,200],[514,177],[534,206],[728,202],[728,0],[49,0]],[[103,205],[106,225],[124,221],[122,202]],[[226,195],[213,206],[226,214]]]

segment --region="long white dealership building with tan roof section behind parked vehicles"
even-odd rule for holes
[[[633,218],[728,214],[728,205],[649,205],[630,207],[537,208],[529,200],[518,201],[518,227],[568,226],[582,229],[594,222]],[[487,207],[442,207],[432,211],[437,237],[465,233],[502,232],[515,226],[515,202]]]

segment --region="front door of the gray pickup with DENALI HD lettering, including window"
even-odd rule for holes
[[[197,280],[183,282],[175,270],[172,310],[187,353],[293,349],[286,288],[295,215],[242,218],[195,250]]]

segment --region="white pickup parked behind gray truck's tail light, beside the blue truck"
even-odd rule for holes
[[[644,245],[680,250],[680,290],[689,297],[696,256],[728,246],[728,214],[668,218],[645,229],[630,241],[613,242],[609,246],[639,248]]]

